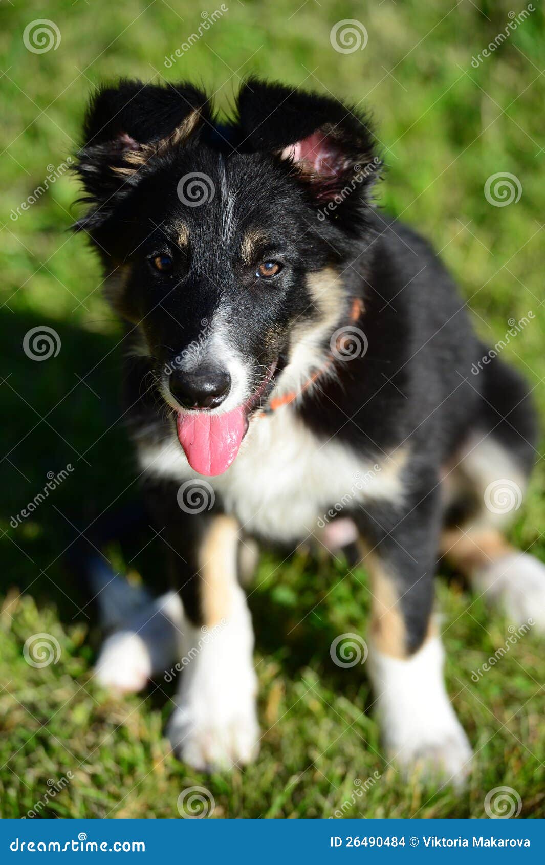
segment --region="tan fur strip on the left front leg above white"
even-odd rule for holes
[[[209,628],[229,618],[237,585],[239,525],[232,516],[216,516],[199,550],[202,617]]]

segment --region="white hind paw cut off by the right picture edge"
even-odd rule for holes
[[[485,598],[497,601],[514,625],[534,624],[545,632],[545,565],[527,553],[492,562],[475,578]]]

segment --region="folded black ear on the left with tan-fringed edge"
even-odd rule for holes
[[[190,85],[157,86],[121,80],[93,96],[76,172],[94,207],[76,228],[105,221],[157,157],[196,141],[209,121],[207,97]]]

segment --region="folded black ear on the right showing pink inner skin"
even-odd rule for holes
[[[243,146],[291,160],[317,202],[336,200],[351,182],[364,197],[379,173],[369,119],[337,99],[250,79],[238,113]]]

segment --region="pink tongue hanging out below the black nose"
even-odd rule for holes
[[[248,422],[238,407],[223,414],[178,413],[176,427],[191,468],[200,475],[221,475],[239,452]]]

